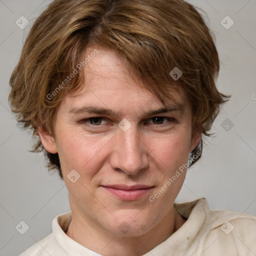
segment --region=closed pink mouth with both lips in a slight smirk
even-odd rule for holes
[[[107,192],[121,200],[137,200],[147,193],[151,192],[154,186],[136,184],[136,185],[125,185],[125,184],[113,184],[113,185],[101,185]]]

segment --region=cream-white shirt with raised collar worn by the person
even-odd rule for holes
[[[165,241],[143,256],[255,256],[256,217],[229,210],[209,209],[205,198],[174,203],[186,222]],[[100,255],[65,234],[71,211],[57,215],[52,233],[19,256],[96,256]],[[224,223],[225,221],[228,221]]]

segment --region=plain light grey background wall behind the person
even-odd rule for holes
[[[7,104],[8,79],[24,38],[49,2],[0,0],[0,255],[21,253],[51,232],[54,216],[70,210],[64,183],[47,173],[42,154],[28,151],[31,137],[17,128]],[[188,170],[176,202],[206,197],[211,209],[256,215],[256,1],[190,2],[209,17],[221,61],[217,86],[232,98],[213,124],[215,136],[205,138],[202,158]],[[21,15],[29,20],[25,29],[15,24]],[[220,23],[226,15],[234,21],[229,29]],[[29,226],[23,235],[15,229],[21,220]]]

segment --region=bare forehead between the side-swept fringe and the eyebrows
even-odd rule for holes
[[[91,54],[95,52],[96,54]],[[138,76],[128,69],[117,53],[101,47],[87,47],[83,59],[86,65],[84,84],[79,92],[72,92],[61,102],[66,108],[78,107],[82,104],[101,105],[107,108],[137,107],[148,109],[163,106],[186,106],[187,98],[181,89],[172,89],[175,102],[163,104],[160,99],[144,87]]]

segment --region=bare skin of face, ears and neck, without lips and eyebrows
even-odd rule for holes
[[[164,105],[141,87],[141,81],[114,51],[96,48],[99,52],[84,68],[86,84],[60,103],[55,136],[40,129],[39,135],[44,148],[59,155],[72,211],[66,234],[99,254],[142,255],[185,222],[173,206],[185,171],[154,202],[149,196],[187,162],[200,133],[192,136],[191,106],[184,92],[173,91],[174,98],[184,104],[183,111],[145,115]],[[85,55],[94,49],[87,47]],[[104,107],[118,115],[68,113],[81,106]],[[88,119],[91,117],[99,118]],[[118,127],[123,118],[131,124],[126,131]],[[74,183],[67,177],[72,169],[80,175]],[[153,188],[143,197],[127,201],[106,191],[102,187],[106,184]],[[130,227],[126,233],[118,228],[123,221]]]

